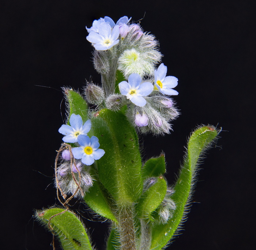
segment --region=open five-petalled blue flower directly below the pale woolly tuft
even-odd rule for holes
[[[129,75],[128,82],[120,82],[118,87],[122,95],[126,95],[127,99],[140,107],[147,103],[143,96],[151,94],[154,88],[151,82],[142,83],[140,75],[136,73]]]

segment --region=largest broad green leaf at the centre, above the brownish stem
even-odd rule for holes
[[[118,205],[128,205],[142,192],[138,137],[127,117],[102,109],[91,118],[94,135],[105,155],[97,160],[99,180]]]

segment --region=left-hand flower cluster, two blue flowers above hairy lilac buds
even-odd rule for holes
[[[84,192],[93,185],[93,179],[87,167],[92,165],[95,160],[100,159],[105,151],[99,149],[99,140],[96,136],[91,138],[87,136],[91,129],[90,120],[83,124],[80,115],[71,114],[69,124],[62,125],[59,132],[64,135],[64,142],[75,143],[74,145],[77,147],[73,147],[71,152],[67,149],[62,151],[62,160],[57,168],[55,181],[56,186],[60,187],[64,194],[83,197]],[[72,161],[72,157],[74,157],[74,161]]]

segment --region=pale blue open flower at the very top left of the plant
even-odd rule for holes
[[[98,33],[91,31],[86,39],[93,43],[96,50],[108,50],[116,45],[119,40],[119,26],[114,26],[113,30],[109,23],[100,23]]]

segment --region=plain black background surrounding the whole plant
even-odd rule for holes
[[[170,184],[196,125],[222,127],[201,166],[184,230],[169,249],[252,249],[255,231],[254,1],[9,0],[1,19],[1,224],[3,249],[48,250],[52,236],[33,210],[59,204],[53,165],[61,144],[62,86],[100,81],[85,26],[110,16],[140,19],[154,34],[181,116],[165,137],[141,137],[143,156],[166,153]],[[143,18],[144,17],[144,18]],[[40,86],[37,86],[40,85]],[[44,86],[44,87],[42,87]],[[62,103],[62,104],[61,104]],[[60,106],[62,105],[62,109]],[[108,227],[75,204],[93,242],[103,249]],[[95,228],[95,229],[93,229]]]

